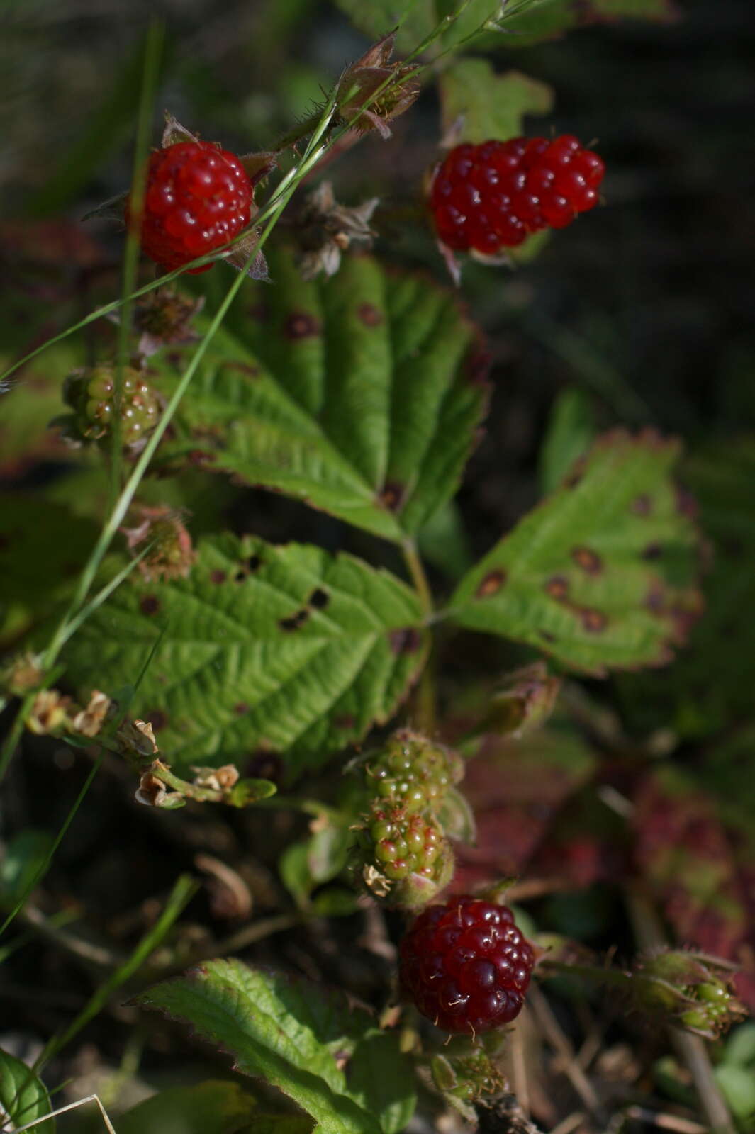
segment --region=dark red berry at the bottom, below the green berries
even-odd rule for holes
[[[534,962],[508,906],[465,896],[425,909],[401,942],[401,990],[447,1032],[486,1032],[521,1010]]]

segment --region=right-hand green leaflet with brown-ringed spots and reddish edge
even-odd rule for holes
[[[699,610],[678,445],[604,434],[461,581],[447,611],[593,674],[661,665]]]

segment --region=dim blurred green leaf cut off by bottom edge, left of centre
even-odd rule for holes
[[[207,1080],[171,1086],[132,1107],[118,1134],[237,1134],[257,1119],[257,1102],[238,1083]]]

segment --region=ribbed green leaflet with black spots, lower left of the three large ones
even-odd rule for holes
[[[205,539],[186,579],[124,585],[71,638],[83,691],[134,680],[177,773],[262,748],[298,772],[396,711],[426,653],[419,602],[385,570],[315,547]]]

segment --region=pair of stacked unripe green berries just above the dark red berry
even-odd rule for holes
[[[370,804],[358,841],[373,895],[416,909],[448,885],[453,855],[439,814],[463,767],[456,753],[410,729],[393,733],[366,762]]]

